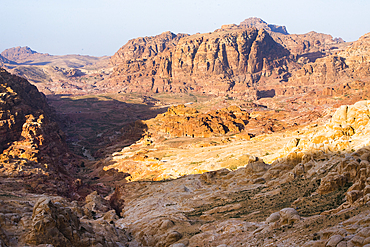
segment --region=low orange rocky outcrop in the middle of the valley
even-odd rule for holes
[[[275,111],[255,112],[250,114],[239,106],[230,106],[220,110],[198,112],[196,109],[177,105],[168,108],[164,114],[147,120],[148,133],[167,137],[212,137],[225,134],[237,134],[240,139],[282,131],[292,127],[283,121],[284,116]]]

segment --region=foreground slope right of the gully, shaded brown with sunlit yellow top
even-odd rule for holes
[[[368,246],[369,103],[295,132],[271,164],[123,184],[116,225],[139,246]]]

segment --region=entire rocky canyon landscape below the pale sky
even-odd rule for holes
[[[370,34],[259,18],[0,55],[0,246],[370,246]]]

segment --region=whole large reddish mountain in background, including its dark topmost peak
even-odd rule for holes
[[[165,32],[131,40],[112,56],[114,71],[97,86],[122,92],[272,97],[268,90],[284,87],[302,65],[346,45],[316,32],[290,35],[285,27],[249,18],[205,34]]]

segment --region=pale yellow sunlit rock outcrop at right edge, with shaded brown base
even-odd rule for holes
[[[281,176],[284,170],[290,171],[287,180],[325,174],[317,193],[324,195],[341,188],[348,189],[344,191],[346,203],[334,212],[369,202],[369,115],[369,101],[341,106],[324,126],[304,131],[276,154],[280,159],[272,163],[264,177]],[[342,152],[347,154],[342,155]],[[317,162],[320,157],[322,161]]]

